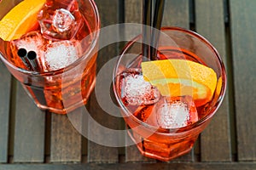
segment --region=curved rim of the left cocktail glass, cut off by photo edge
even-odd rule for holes
[[[8,61],[8,59],[5,59],[5,57],[3,56],[3,54],[0,52],[0,59],[3,60],[4,64],[9,65],[11,68],[13,68],[15,71],[19,71],[22,72],[26,75],[32,75],[35,77],[50,77],[53,75],[59,75],[61,74],[63,71],[69,71],[71,70],[73,67],[75,67],[76,65],[79,65],[80,61],[85,59],[87,57],[88,54],[92,53],[93,49],[96,47],[96,43],[99,40],[100,37],[100,27],[101,27],[101,22],[100,22],[100,14],[98,12],[98,8],[96,7],[96,3],[94,2],[94,0],[88,0],[91,4],[91,8],[93,9],[93,12],[96,16],[95,20],[96,20],[96,31],[90,32],[90,35],[93,35],[92,41],[90,42],[90,45],[88,46],[88,48],[85,50],[84,54],[81,54],[82,57],[80,57],[79,59],[76,59],[71,65],[67,65],[64,68],[55,70],[55,71],[45,71],[45,72],[37,72],[37,71],[27,71],[24,69],[21,69],[20,67],[17,67],[16,65],[13,65],[12,63],[10,63]],[[90,36],[88,35],[88,36]],[[84,37],[81,42],[87,38],[88,36]]]

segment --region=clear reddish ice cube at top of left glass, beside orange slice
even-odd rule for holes
[[[83,17],[76,0],[47,0],[38,13],[38,22],[44,37],[69,40],[83,25]]]

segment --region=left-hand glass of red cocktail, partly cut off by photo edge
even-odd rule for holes
[[[86,104],[95,86],[100,19],[93,0],[45,2],[48,4],[44,5],[44,9],[42,7],[40,16],[38,14],[38,23],[41,23],[37,29],[27,32],[17,40],[3,41],[0,38],[0,58],[38,108],[66,114]],[[1,1],[0,19],[18,3],[18,0]],[[54,5],[50,6],[52,4]],[[73,15],[68,10],[73,10]],[[71,23],[77,20],[76,17],[79,18],[77,23]],[[60,30],[60,34],[61,31],[64,32],[60,36],[56,27],[63,28],[65,22],[70,24],[71,29],[76,26],[76,30],[71,33]],[[18,51],[25,48],[29,52],[30,48],[35,49],[34,44],[38,45],[38,65],[35,67],[35,63],[31,63],[33,67],[29,68],[18,56]],[[73,59],[68,59],[68,55]]]

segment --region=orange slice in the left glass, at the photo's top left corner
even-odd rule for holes
[[[4,41],[20,38],[37,23],[37,15],[45,0],[24,0],[0,21],[0,37]]]

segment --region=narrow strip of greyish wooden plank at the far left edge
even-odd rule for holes
[[[0,62],[0,79],[0,163],[4,163],[8,161],[11,76],[2,62]]]

